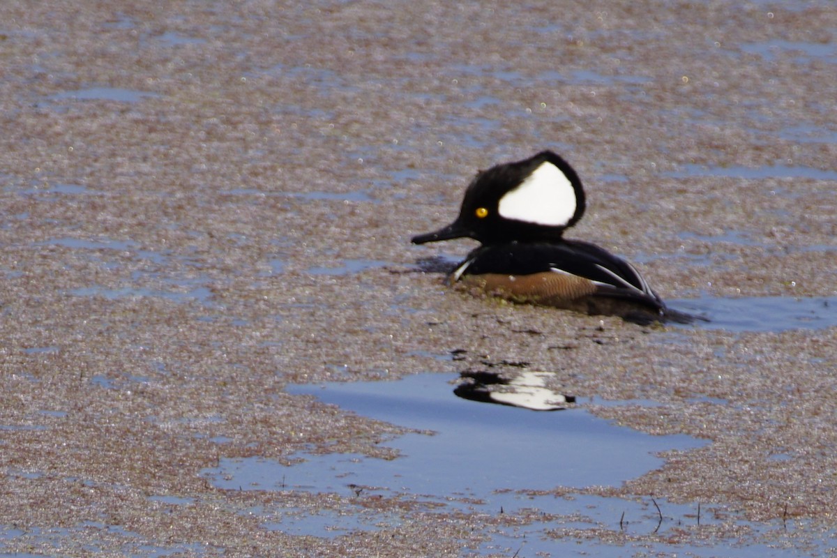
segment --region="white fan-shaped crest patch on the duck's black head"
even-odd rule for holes
[[[561,227],[576,210],[573,183],[557,166],[544,161],[520,186],[500,198],[501,217]]]

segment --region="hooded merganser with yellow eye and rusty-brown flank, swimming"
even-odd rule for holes
[[[562,237],[582,218],[584,205],[573,167],[542,151],[477,173],[454,223],[413,237],[413,243],[465,237],[482,243],[449,275],[451,284],[465,289],[641,324],[694,320],[667,308],[624,259]]]

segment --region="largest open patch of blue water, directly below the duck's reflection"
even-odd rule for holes
[[[356,484],[435,500],[465,496],[499,509],[516,505],[497,490],[619,485],[660,467],[657,452],[706,443],[685,435],[650,436],[581,408],[533,412],[461,400],[453,394],[451,379],[421,374],[401,381],[287,388],[367,417],[434,432],[387,443],[400,453],[393,460],[299,453],[291,458],[305,462],[290,467],[260,458],[222,459],[217,470],[204,473],[223,489],[289,487],[348,494],[348,485]]]

